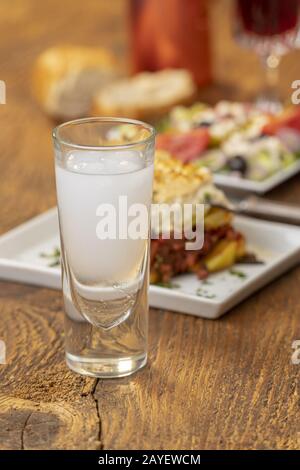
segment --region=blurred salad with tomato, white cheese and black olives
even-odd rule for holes
[[[300,111],[278,115],[221,101],[176,106],[158,125],[157,148],[212,172],[263,181],[293,164],[300,152]]]

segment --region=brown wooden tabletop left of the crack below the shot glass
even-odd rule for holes
[[[94,379],[64,361],[61,295],[0,283],[0,449],[96,449]]]

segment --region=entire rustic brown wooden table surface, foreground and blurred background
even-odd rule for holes
[[[204,99],[254,94],[258,60],[233,44],[227,0],[213,0],[216,84]],[[50,129],[30,94],[36,55],[56,43],[101,44],[125,62],[123,0],[2,0],[1,233],[55,204]],[[299,52],[282,64],[282,91],[299,79]],[[300,178],[272,197],[300,200]],[[299,447],[300,269],[218,321],[150,313],[150,357],[137,375],[111,381],[70,372],[63,355],[60,292],[0,283],[1,449],[295,449]]]

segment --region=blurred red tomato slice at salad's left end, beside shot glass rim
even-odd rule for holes
[[[184,133],[166,132],[156,138],[156,148],[167,150],[183,163],[190,162],[201,156],[209,144],[207,129],[195,129]]]

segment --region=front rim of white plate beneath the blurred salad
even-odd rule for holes
[[[300,171],[300,160],[296,160],[292,165],[284,170],[278,171],[264,181],[252,181],[245,178],[238,178],[230,175],[219,175],[214,173],[214,182],[224,188],[238,190],[239,192],[255,192],[265,194],[287,179],[296,175]]]

